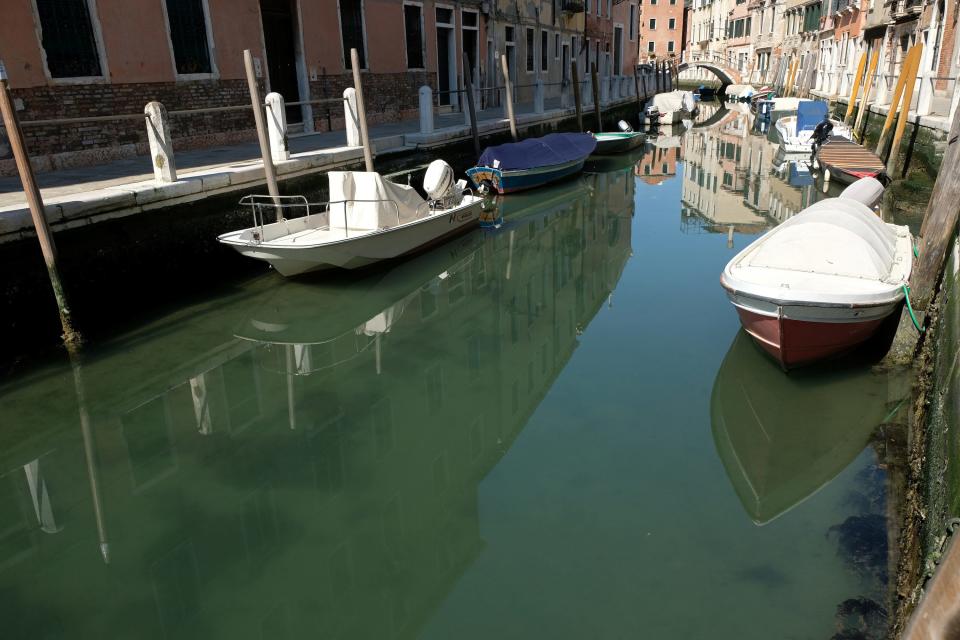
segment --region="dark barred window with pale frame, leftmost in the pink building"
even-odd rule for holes
[[[51,78],[102,76],[89,0],[35,0]]]

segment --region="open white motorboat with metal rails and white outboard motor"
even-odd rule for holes
[[[339,267],[356,269],[414,253],[476,225],[482,198],[454,184],[442,160],[424,176],[424,200],[413,187],[375,172],[330,171],[330,201],[308,203],[303,196],[246,196],[253,225],[217,238],[241,254],[269,262],[280,274]],[[301,217],[264,224],[277,208]]]

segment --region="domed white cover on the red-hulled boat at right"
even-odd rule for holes
[[[808,207],[745,251],[735,269],[772,276],[783,272],[823,274],[874,282],[899,282],[894,271],[897,232],[869,207],[849,198],[829,198]],[[786,279],[784,279],[786,278]]]

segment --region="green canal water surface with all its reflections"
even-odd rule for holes
[[[701,123],[4,381],[0,636],[881,637],[895,385],[740,332],[723,265],[819,191]]]

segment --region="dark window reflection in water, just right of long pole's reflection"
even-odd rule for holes
[[[176,470],[169,420],[164,396],[140,405],[120,419],[134,487],[145,487]]]

